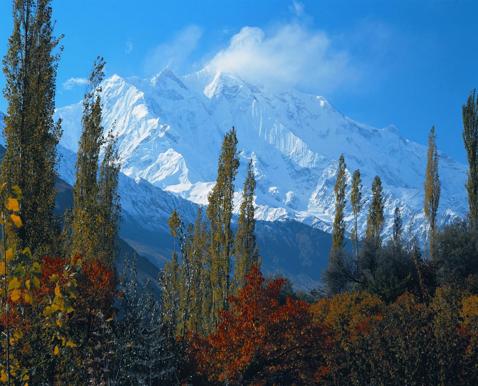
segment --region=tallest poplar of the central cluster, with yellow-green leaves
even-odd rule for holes
[[[210,226],[209,272],[212,292],[210,323],[216,326],[218,311],[228,308],[230,294],[231,252],[234,235],[231,230],[234,180],[239,168],[237,138],[234,126],[224,136],[217,166],[217,180],[209,193],[206,218]]]

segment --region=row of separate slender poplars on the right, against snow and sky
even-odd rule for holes
[[[476,89],[473,90],[468,99],[467,104],[462,106],[463,110],[463,142],[467,151],[467,160],[469,170],[467,172],[467,182],[465,187],[468,193],[468,220],[470,225],[478,225],[478,96]],[[344,211],[346,205],[347,188],[347,165],[344,155],[342,154],[338,162],[337,179],[334,186],[335,193],[335,209],[336,215],[334,219],[332,250],[342,249],[345,247],[345,228]],[[365,237],[375,240],[377,246],[382,243],[382,232],[385,224],[384,205],[385,199],[382,193],[380,177],[375,176],[372,186],[372,198],[369,205],[369,215],[367,217],[367,227]],[[424,181],[424,214],[428,225],[428,240],[430,258],[433,259],[435,249],[435,236],[437,232],[437,214],[440,202],[441,183],[438,175],[438,150],[436,147],[435,127],[433,126],[428,135],[427,163],[425,169]],[[350,241],[352,243],[352,251],[355,254],[359,251],[359,235],[357,228],[357,219],[362,206],[366,201],[362,201],[362,185],[360,179],[360,171],[357,169],[352,175],[352,186],[350,192],[350,204],[352,206],[352,214],[354,223],[350,232]],[[393,239],[397,239],[399,228],[401,228],[402,219],[400,208],[395,207]],[[425,246],[426,247],[426,246]]]

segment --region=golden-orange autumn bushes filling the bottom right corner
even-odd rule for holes
[[[475,297],[438,306],[408,292],[385,305],[366,293],[346,293],[313,305],[315,320],[334,333],[326,354],[326,385],[471,385],[478,379]],[[446,303],[447,300],[440,300]],[[456,307],[453,307],[456,306]],[[475,330],[476,331],[476,330]]]

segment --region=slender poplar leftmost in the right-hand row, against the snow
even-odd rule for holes
[[[338,160],[337,179],[335,181],[334,193],[335,193],[335,219],[334,228],[332,233],[332,249],[342,249],[345,247],[345,188],[347,187],[345,169],[347,165],[345,163],[344,155],[341,154]]]

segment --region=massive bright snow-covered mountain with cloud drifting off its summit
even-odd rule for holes
[[[402,138],[392,125],[362,125],[323,97],[254,85],[207,68],[186,76],[166,68],[150,79],[114,75],[103,83],[102,101],[105,130],[114,127],[119,135],[122,172],[130,177],[207,204],[223,136],[235,126],[241,156],[236,211],[252,158],[257,219],[293,218],[330,230],[337,160],[343,153],[349,183],[353,171],[360,169],[365,198],[374,176],[380,176],[386,197],[385,236],[391,233],[396,205],[404,224],[414,215],[414,229],[423,232],[426,147]],[[78,103],[56,112],[63,119],[61,144],[73,152],[81,110]],[[467,168],[439,155],[441,225],[467,212]],[[350,212],[348,207],[346,220],[351,220]],[[366,217],[367,207],[359,218],[362,234]]]

